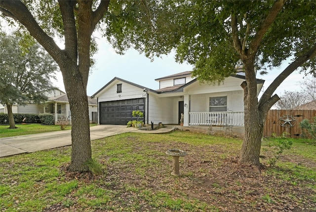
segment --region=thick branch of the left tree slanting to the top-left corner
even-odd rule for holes
[[[45,48],[45,50],[54,58],[58,64],[63,62],[63,51],[56,45],[53,38],[48,36],[39,26],[31,12],[22,3],[21,0],[0,0],[0,7],[12,14],[11,18],[19,21],[30,32],[37,41]],[[6,15],[5,13],[3,13]]]

